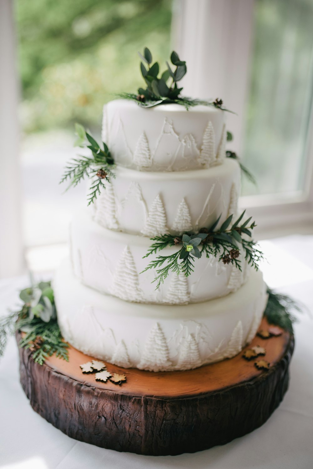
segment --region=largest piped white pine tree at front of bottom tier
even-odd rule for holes
[[[166,371],[171,366],[165,336],[160,325],[156,323],[145,341],[144,352],[138,368],[149,371]]]

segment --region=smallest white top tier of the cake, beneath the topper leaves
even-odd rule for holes
[[[187,171],[225,159],[224,112],[211,106],[142,108],[117,99],[103,108],[102,140],[115,163],[139,171]]]

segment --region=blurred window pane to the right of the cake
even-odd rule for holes
[[[258,187],[243,193],[303,189],[313,92],[313,0],[255,2],[244,163]]]

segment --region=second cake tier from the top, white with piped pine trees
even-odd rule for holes
[[[220,215],[222,223],[229,211],[237,211],[240,168],[229,158],[223,165],[195,171],[147,173],[116,167],[115,174],[97,198],[94,214],[110,229],[179,234],[208,227]]]

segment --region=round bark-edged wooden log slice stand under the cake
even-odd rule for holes
[[[263,319],[261,328],[267,328]],[[193,453],[223,445],[264,424],[282,401],[289,381],[293,336],[255,337],[266,356],[229,360],[190,371],[122,369],[122,386],[95,380],[79,365],[90,356],[69,348],[69,363],[52,356],[42,366],[20,348],[21,384],[31,407],[69,437],[137,454]],[[266,360],[268,371],[254,362]]]

